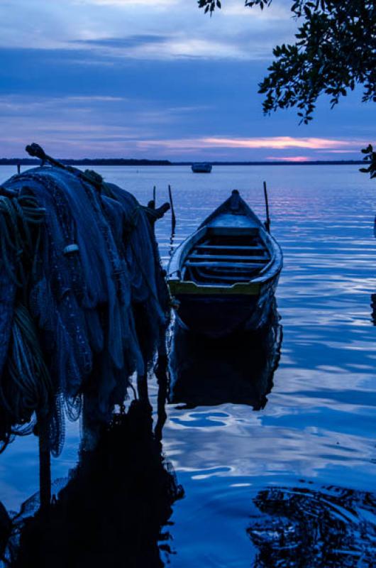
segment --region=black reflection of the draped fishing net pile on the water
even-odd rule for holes
[[[12,567],[165,565],[160,550],[168,557],[169,535],[161,531],[183,491],[162,456],[158,438],[165,400],[158,403],[158,434],[150,405],[133,400],[128,412],[115,415],[101,432],[95,449],[80,452],[79,464],[48,510],[23,514],[18,526],[15,519],[8,550]],[[30,508],[24,503],[23,510]]]

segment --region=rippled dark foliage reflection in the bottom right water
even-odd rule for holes
[[[253,503],[255,568],[375,566],[375,494],[309,484],[264,489]]]

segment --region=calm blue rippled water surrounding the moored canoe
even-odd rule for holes
[[[1,168],[1,179],[14,170]],[[194,405],[167,405],[163,449],[184,487],[169,528],[171,566],[372,565],[375,182],[356,166],[217,167],[210,175],[194,175],[187,167],[96,170],[143,203],[150,200],[153,185],[157,204],[166,201],[170,183],[175,244],[233,188],[263,218],[266,180],[272,232],[284,251],[277,289],[281,356],[274,377],[269,369],[269,383],[260,386],[262,404],[241,396],[234,403],[229,395],[213,405],[204,394],[200,400],[199,393]],[[157,239],[167,262],[170,217],[158,223]],[[193,346],[184,362],[187,376],[192,373],[194,381],[199,373],[204,382],[211,374],[213,381],[213,368],[214,378],[219,373],[225,383],[226,378],[236,381],[239,373],[252,376],[257,358],[252,346],[240,363],[230,355],[221,364],[221,355],[216,368],[215,360],[213,366],[203,360],[201,349],[198,368]],[[213,359],[213,350],[208,357]],[[262,381],[261,376],[262,371],[252,381]],[[150,393],[155,403],[154,380]],[[65,449],[52,460],[54,479],[65,478],[76,464],[78,443],[79,426],[67,423]],[[1,455],[0,501],[6,508],[18,510],[38,490],[36,449],[35,438],[29,437]],[[296,563],[297,552],[291,550],[306,560]]]

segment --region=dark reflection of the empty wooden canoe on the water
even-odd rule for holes
[[[170,403],[184,403],[185,408],[223,403],[264,408],[281,343],[282,325],[274,298],[269,320],[258,332],[209,339],[176,324],[170,353]]]

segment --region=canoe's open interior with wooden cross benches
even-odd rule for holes
[[[270,251],[257,227],[208,228],[184,259],[182,280],[201,285],[249,282],[265,271]]]

